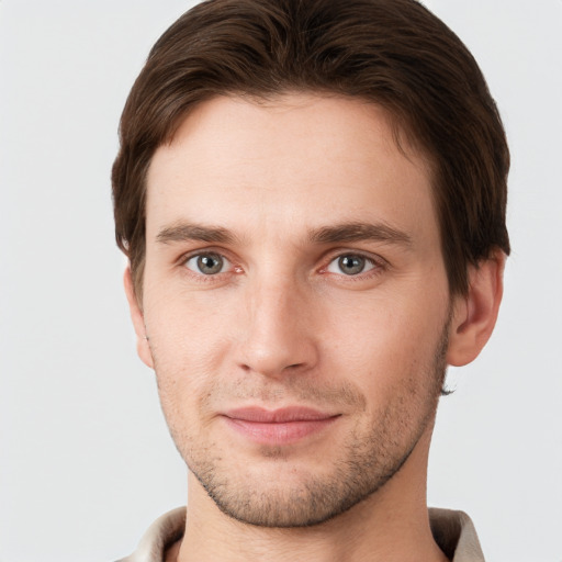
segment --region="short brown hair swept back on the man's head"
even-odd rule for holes
[[[303,91],[383,106],[428,155],[452,294],[465,294],[468,265],[509,254],[502,121],[474,58],[439,19],[416,0],[209,0],[158,40],[121,117],[115,235],[139,297],[155,150],[213,97]]]

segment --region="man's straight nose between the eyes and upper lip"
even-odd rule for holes
[[[269,378],[314,368],[318,347],[313,300],[290,280],[262,281],[246,290],[239,367]]]

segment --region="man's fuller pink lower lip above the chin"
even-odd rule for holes
[[[330,426],[338,416],[323,419],[262,423],[224,417],[235,431],[260,445],[289,445],[318,434]]]

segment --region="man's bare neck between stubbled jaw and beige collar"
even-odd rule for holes
[[[169,560],[278,562],[299,553],[310,562],[446,562],[431,536],[426,505],[429,439],[420,439],[401,471],[376,493],[312,527],[263,528],[237,521],[224,515],[190,474],[186,533]]]

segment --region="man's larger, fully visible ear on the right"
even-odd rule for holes
[[[470,363],[490,339],[504,293],[505,254],[497,249],[477,267],[469,267],[469,293],[453,301],[447,362]]]

